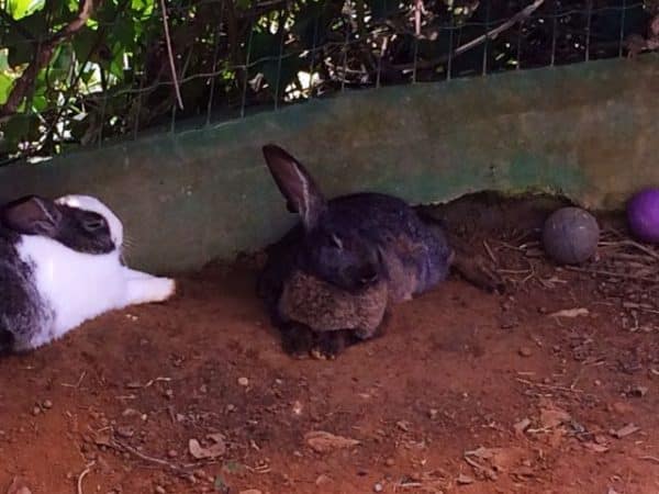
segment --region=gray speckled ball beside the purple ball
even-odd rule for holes
[[[545,251],[565,265],[578,265],[590,259],[595,254],[599,239],[597,221],[580,207],[555,211],[543,228]]]

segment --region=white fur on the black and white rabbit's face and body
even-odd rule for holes
[[[123,226],[99,200],[67,195],[58,203],[102,214],[116,249],[92,255],[72,250],[51,238],[23,235],[18,244],[21,259],[34,267],[35,283],[55,313],[53,327],[43,328],[30,341],[36,348],[59,338],[87,319],[132,304],[160,302],[175,292],[175,281],[135,271],[121,265]]]

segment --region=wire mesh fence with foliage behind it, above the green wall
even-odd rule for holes
[[[659,0],[0,0],[0,160],[659,47]]]

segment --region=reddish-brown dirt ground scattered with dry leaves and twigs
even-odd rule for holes
[[[1,360],[0,493],[659,492],[659,254],[613,221],[556,267],[548,207],[438,212],[506,292],[453,277],[335,361],[282,353],[248,260]]]

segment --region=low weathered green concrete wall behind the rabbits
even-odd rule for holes
[[[263,162],[276,142],[328,195],[414,203],[533,189],[589,207],[659,184],[659,56],[346,92],[204,130],[0,169],[0,198],[85,192],[124,220],[137,267],[176,272],[273,240],[293,220]]]

